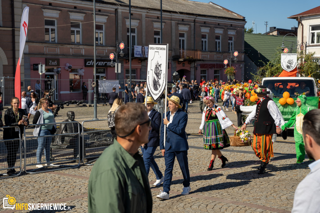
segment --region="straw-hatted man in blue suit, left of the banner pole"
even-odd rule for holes
[[[145,100],[146,101],[146,100]],[[144,102],[143,104],[145,104]],[[164,177],[162,172],[159,170],[159,167],[153,158],[155,151],[160,143],[160,125],[161,125],[161,114],[156,111],[153,106],[158,104],[153,100],[152,97],[148,96],[147,99],[147,110],[148,116],[151,120],[152,129],[149,132],[149,142],[148,144],[141,145],[141,152],[143,154],[143,162],[146,167],[147,175],[149,175],[150,167],[156,175],[156,182],[153,184],[155,186],[161,185],[163,183]]]

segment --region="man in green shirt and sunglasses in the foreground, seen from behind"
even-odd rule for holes
[[[115,115],[117,138],[92,168],[88,188],[89,212],[151,212],[147,172],[138,154],[151,130],[142,104],[122,105]]]

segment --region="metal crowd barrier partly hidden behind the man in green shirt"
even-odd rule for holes
[[[108,123],[108,119],[102,120],[87,120],[82,122],[82,163],[86,166],[93,165],[92,162],[96,161],[102,152],[113,144],[111,131],[107,129],[87,129],[84,127],[88,122],[101,122],[105,121]],[[94,159],[92,159],[94,158]],[[84,162],[87,159],[88,162]]]

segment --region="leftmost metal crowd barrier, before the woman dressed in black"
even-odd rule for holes
[[[17,126],[16,126],[17,127]],[[15,127],[11,127],[11,126],[4,126],[1,127],[0,129],[8,129],[8,128],[15,128]],[[21,140],[20,140],[20,128],[19,129],[19,138],[13,138],[13,139],[6,139],[6,140],[1,140],[0,139],[0,171],[1,170],[9,170],[9,169],[20,169],[19,173],[14,173],[12,175],[8,175],[7,173],[0,173],[0,179],[5,179],[5,178],[10,178],[10,177],[18,177],[21,172],[22,172],[22,148],[21,148]],[[3,132],[1,132],[1,138],[3,138]],[[18,143],[18,144],[16,144]],[[8,155],[8,149],[10,149],[10,151],[12,150],[12,148],[16,148],[15,146],[18,146],[17,152],[19,154],[19,158],[17,159],[17,153],[15,153],[15,160],[18,161],[15,162],[15,165],[19,165],[19,166],[14,166],[14,167],[10,167],[8,166],[7,162],[7,155]],[[13,159],[12,159],[13,160]]]

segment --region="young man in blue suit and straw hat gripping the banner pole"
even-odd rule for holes
[[[190,174],[188,167],[188,141],[186,137],[186,126],[188,122],[188,114],[182,112],[180,108],[180,99],[177,96],[171,96],[168,99],[168,108],[170,112],[164,114],[163,123],[160,131],[160,149],[164,156],[164,182],[163,192],[157,195],[159,199],[169,199],[169,191],[172,180],[172,170],[174,159],[180,165],[183,175],[183,189],[181,195],[190,193]],[[164,127],[166,127],[166,140],[164,145]]]

